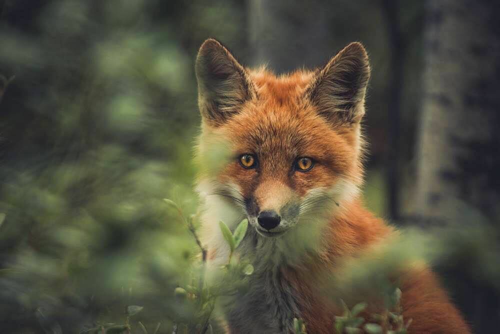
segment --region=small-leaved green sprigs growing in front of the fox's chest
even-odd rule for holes
[[[227,259],[227,264],[223,265],[220,270],[221,274],[218,275],[218,283],[210,284],[205,280],[206,271],[206,249],[203,248],[199,238],[197,236],[196,230],[193,225],[193,219],[195,215],[185,216],[182,209],[172,200],[164,199],[166,203],[175,208],[178,212],[181,220],[185,223],[186,227],[190,230],[196,244],[199,247],[201,254],[201,269],[193,271],[193,276],[191,276],[190,281],[192,284],[187,284],[185,286],[176,287],[174,290],[175,296],[178,298],[179,302],[187,302],[193,311],[190,317],[181,319],[180,323],[174,323],[172,332],[213,332],[213,326],[210,320],[213,317],[213,310],[215,308],[215,302],[218,296],[223,296],[224,294],[233,294],[234,288],[243,289],[245,285],[244,278],[253,273],[253,266],[251,263],[231,262],[233,258],[234,250],[238,247],[239,243],[243,239],[248,227],[248,220],[243,219],[231,232],[227,225],[223,222],[219,222],[220,231],[225,241],[229,246],[229,256]],[[363,277],[367,279],[368,276]],[[341,316],[334,316],[334,331],[338,334],[355,334],[367,332],[367,333],[387,333],[387,334],[405,334],[407,328],[411,324],[411,319],[405,321],[402,316],[402,308],[400,306],[401,290],[395,288],[392,293],[388,296],[388,309],[386,309],[381,314],[371,314],[370,319],[365,319],[359,316],[359,313],[365,310],[367,304],[365,302],[355,304],[352,309],[349,309],[343,300],[340,300],[344,309]],[[333,316],[333,315],[332,315]],[[369,320],[373,322],[369,322]],[[217,324],[217,319],[212,321]],[[127,318],[128,324],[128,318]],[[127,325],[125,324],[125,325]],[[297,334],[306,333],[306,324],[301,320],[293,319],[294,329]],[[221,328],[217,328],[218,331]],[[332,328],[333,330],[333,328]],[[147,331],[144,329],[147,334]]]

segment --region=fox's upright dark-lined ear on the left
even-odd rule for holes
[[[195,71],[199,110],[211,125],[223,123],[241,104],[255,97],[255,88],[246,70],[215,39],[201,44]]]

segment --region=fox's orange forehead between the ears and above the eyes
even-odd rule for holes
[[[228,139],[233,153],[255,153],[263,163],[281,167],[281,162],[287,168],[289,160],[309,156],[346,171],[355,158],[348,138],[301,99],[312,74],[275,76],[262,69],[250,73],[258,97],[215,130]]]

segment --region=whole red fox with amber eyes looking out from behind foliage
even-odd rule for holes
[[[296,317],[310,333],[333,332],[342,313],[335,297],[349,297],[325,286],[397,238],[359,199],[366,50],[353,42],[322,68],[276,76],[265,67],[243,67],[207,39],[195,72],[202,242],[209,265],[224,264],[229,247],[218,222],[233,229],[247,218],[236,252],[254,266],[248,288],[227,309],[228,331],[292,332]],[[390,275],[402,291],[402,315],[412,319],[408,332],[469,332],[424,264],[407,263]],[[383,303],[366,301],[373,311]]]

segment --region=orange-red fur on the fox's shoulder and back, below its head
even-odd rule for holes
[[[311,333],[327,333],[333,328],[334,315],[341,315],[338,304],[325,299],[318,288],[321,274],[338,267],[338,260],[357,256],[378,241],[386,241],[392,229],[375,218],[359,202],[354,202],[342,217],[330,221],[331,242],[314,263],[301,270],[288,270],[287,277],[300,291],[301,315]],[[340,220],[340,221],[339,221]],[[341,223],[341,220],[348,223]],[[401,307],[404,319],[412,319],[408,333],[469,333],[465,321],[449,301],[434,273],[425,266],[408,266],[396,278],[402,291]],[[361,295],[361,300],[366,295]],[[370,305],[372,312],[383,310]],[[361,314],[369,318],[369,312]]]

